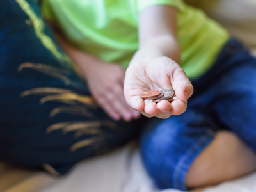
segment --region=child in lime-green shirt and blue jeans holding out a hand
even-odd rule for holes
[[[131,106],[158,117],[143,133],[141,154],[159,188],[184,190],[255,170],[256,60],[225,29],[181,0],[42,3],[109,116],[138,118]],[[175,90],[177,100],[145,104],[140,97],[161,89]]]

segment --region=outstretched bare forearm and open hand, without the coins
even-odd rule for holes
[[[180,51],[176,15],[177,10],[169,6],[150,6],[140,13],[140,48],[127,68],[124,93],[128,104],[145,116],[168,118],[184,113],[186,101],[193,93],[193,86],[177,64]],[[140,93],[155,89],[173,89],[177,100],[145,104]]]

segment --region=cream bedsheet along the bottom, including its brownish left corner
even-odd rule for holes
[[[175,189],[160,191],[154,187],[143,168],[138,147],[133,143],[111,154],[82,161],[63,177],[52,177],[45,172],[12,167],[9,168],[8,174],[1,175],[1,171],[3,168],[0,166],[1,192],[180,192]],[[1,188],[6,182],[10,183]],[[256,173],[193,192],[198,191],[256,191]]]

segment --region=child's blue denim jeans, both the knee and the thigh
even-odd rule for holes
[[[186,112],[155,119],[141,138],[145,167],[161,189],[185,190],[189,166],[221,129],[256,152],[256,58],[230,39],[213,67],[191,83],[195,92]]]

